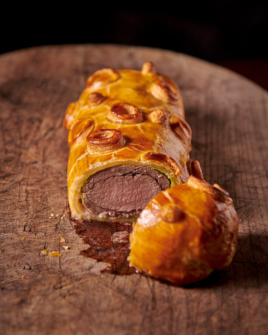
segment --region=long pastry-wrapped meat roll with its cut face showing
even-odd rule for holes
[[[93,73],[66,111],[69,130],[68,198],[77,219],[137,217],[159,192],[189,171],[191,128],[177,84],[146,62],[141,71]],[[188,164],[188,165],[187,165]]]

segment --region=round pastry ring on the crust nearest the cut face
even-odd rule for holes
[[[125,143],[122,132],[117,129],[98,129],[86,137],[87,151],[90,154],[119,150]]]

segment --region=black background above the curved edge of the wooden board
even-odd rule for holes
[[[267,89],[267,2],[13,3],[2,12],[0,53],[65,43],[150,46],[226,66]]]

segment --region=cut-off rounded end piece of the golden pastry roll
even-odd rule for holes
[[[178,284],[226,268],[235,254],[238,215],[217,184],[190,176],[159,193],[130,235],[130,266]]]

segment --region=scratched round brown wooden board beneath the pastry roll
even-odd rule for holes
[[[229,191],[240,218],[228,269],[188,287],[100,272],[107,263],[80,254],[89,246],[69,219],[65,109],[93,71],[140,69],[146,60],[179,84],[191,156],[208,182]],[[267,334],[264,89],[179,53],[77,45],[2,55],[0,97],[1,334]]]

